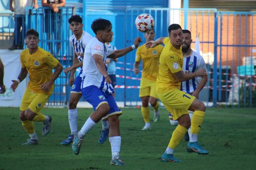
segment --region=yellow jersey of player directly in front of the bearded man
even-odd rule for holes
[[[172,46],[170,39],[164,39],[164,49],[159,59],[159,72],[156,78],[156,92],[164,93],[174,88],[180,89],[181,82],[177,81],[174,73],[182,70],[183,54],[182,46],[176,49]]]

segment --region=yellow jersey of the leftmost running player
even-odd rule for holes
[[[48,92],[41,90],[41,85],[52,78],[52,69],[57,66],[59,61],[42,48],[38,48],[35,53],[30,54],[29,49],[20,53],[20,63],[22,68],[26,68],[29,73],[27,88],[33,92],[51,95],[54,85]]]

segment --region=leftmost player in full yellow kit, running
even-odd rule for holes
[[[43,122],[43,136],[49,133],[51,128],[51,116],[45,116],[41,109],[51,96],[54,82],[63,70],[63,66],[52,56],[51,53],[39,48],[39,34],[34,29],[28,29],[25,42],[27,49],[20,53],[21,70],[15,80],[11,80],[11,89],[15,92],[19,83],[22,82],[29,73],[30,81],[22,97],[20,104],[19,118],[23,128],[30,135],[30,139],[22,145],[37,145],[33,122]],[[52,69],[55,69],[52,73]]]

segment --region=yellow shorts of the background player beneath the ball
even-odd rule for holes
[[[155,92],[156,82],[141,78],[141,85],[139,87],[139,97],[152,96],[158,99]]]

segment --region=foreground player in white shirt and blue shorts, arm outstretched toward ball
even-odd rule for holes
[[[118,58],[131,52],[139,46],[141,38],[137,37],[134,44],[119,50],[112,50],[105,42],[110,42],[113,36],[112,24],[106,19],[96,19],[91,25],[95,37],[85,48],[85,58],[82,64],[82,96],[93,106],[94,112],[90,114],[81,130],[75,133],[72,150],[75,155],[80,152],[82,141],[86,134],[102,118],[109,122],[109,142],[112,149],[111,165],[125,165],[119,158],[121,149],[121,135],[119,130],[119,116],[121,109],[115,103],[111,79],[107,73],[106,58]]]

